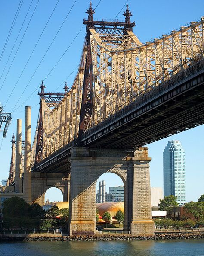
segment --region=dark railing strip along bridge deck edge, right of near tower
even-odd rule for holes
[[[87,131],[84,132],[82,139],[86,138],[87,136],[93,134],[95,131],[98,131],[101,128],[104,128],[106,125],[110,124],[113,121],[116,121],[117,118],[121,118],[121,116],[127,114],[127,112],[130,112],[131,110],[135,109],[136,107],[142,106],[146,102],[148,102],[150,99],[158,96],[160,93],[168,90],[175,84],[187,79],[188,77],[191,77],[192,75],[198,73],[199,71],[204,69],[204,58],[198,61],[197,63],[193,64],[192,66],[189,66],[187,69],[180,71],[179,73],[173,75],[170,77],[169,80],[166,80],[165,82],[161,82],[160,85],[155,86],[155,84],[152,84],[151,86],[146,88],[146,91],[144,91],[141,95],[135,96],[132,98],[132,101],[130,104],[126,105],[124,104],[124,107],[122,106],[122,109],[118,110],[118,112],[114,114],[110,114],[108,118],[104,121],[100,120],[96,122],[96,125]]]

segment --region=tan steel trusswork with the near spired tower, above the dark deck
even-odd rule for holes
[[[68,145],[80,145],[84,133],[204,58],[203,17],[142,43],[132,31],[135,23],[128,21],[130,13],[126,22],[94,21],[94,10],[87,13],[87,35],[71,89],[53,109],[41,97],[36,164]]]

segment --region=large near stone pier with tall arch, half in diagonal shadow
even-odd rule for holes
[[[96,231],[96,181],[107,172],[124,182],[124,230],[131,234],[154,234],[148,148],[134,152],[116,149],[92,150],[73,147],[70,157],[69,234],[94,234]]]

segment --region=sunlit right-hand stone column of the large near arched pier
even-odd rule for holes
[[[151,214],[151,190],[149,176],[148,148],[141,147],[135,151],[133,160],[132,181],[132,220],[131,234],[154,234],[155,224]],[[131,187],[131,186],[130,186]]]

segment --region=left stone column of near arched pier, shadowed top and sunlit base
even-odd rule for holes
[[[86,147],[74,147],[71,156],[69,234],[93,235],[96,227],[96,185],[90,177],[91,157]]]

